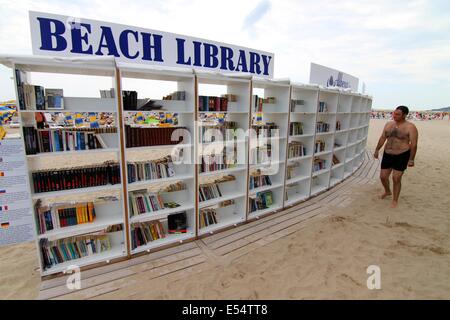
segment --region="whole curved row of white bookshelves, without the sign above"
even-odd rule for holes
[[[69,265],[92,267],[163,250],[274,214],[339,184],[364,161],[370,96],[110,58],[22,56],[0,57],[0,63],[13,70],[16,84],[17,76],[24,84],[50,89],[59,88],[58,79],[83,79],[74,82],[82,85],[61,88],[62,110],[19,110],[35,216],[48,219],[60,209],[87,208],[76,211],[81,223],[47,227],[47,220],[35,219],[41,276],[62,273]],[[42,73],[51,80],[41,80]],[[17,101],[23,100],[20,90],[16,85]],[[75,148],[66,139],[67,151],[49,152],[51,139],[42,140],[42,123],[43,131],[77,132],[91,122],[100,129],[85,129],[84,139],[93,135],[95,148],[92,141]],[[263,129],[275,129],[275,135]],[[35,145],[29,137],[33,130],[41,139]],[[52,148],[61,148],[55,141]],[[102,184],[98,178],[75,187],[69,172],[64,186],[74,187],[61,188],[59,181],[33,176],[105,163],[107,177],[118,168],[120,183],[111,178]],[[53,183],[55,190],[35,180]],[[262,205],[252,208],[253,199]],[[95,219],[86,213],[91,204]],[[98,241],[99,251],[77,257],[75,246],[67,245],[89,237]],[[44,259],[41,247],[52,241],[67,246],[60,261]]]

